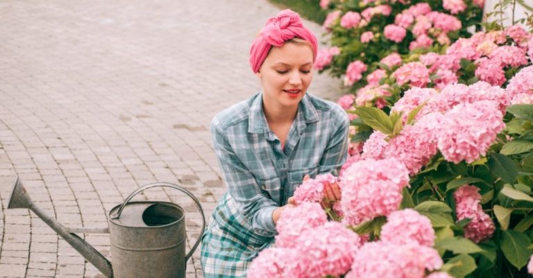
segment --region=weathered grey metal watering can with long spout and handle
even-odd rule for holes
[[[187,260],[200,243],[201,236],[185,254],[185,211],[172,202],[130,202],[138,193],[153,187],[170,187],[187,194],[205,216],[200,202],[192,193],[176,184],[157,182],[133,191],[121,205],[109,212],[109,229],[67,228],[36,207],[19,178],[11,191],[8,209],[31,209],[44,223],[90,261],[105,277],[183,278]],[[74,232],[110,233],[113,263]]]

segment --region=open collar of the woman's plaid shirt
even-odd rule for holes
[[[267,118],[263,112],[263,93],[259,92],[250,105],[248,121],[248,132],[265,133],[268,132]],[[298,104],[298,112],[294,119],[298,128],[304,128],[306,123],[319,121],[319,113],[311,102],[309,96],[305,94]]]

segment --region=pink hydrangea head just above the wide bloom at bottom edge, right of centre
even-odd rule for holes
[[[381,241],[403,244],[419,244],[431,247],[435,231],[431,221],[414,209],[394,211],[381,228]]]

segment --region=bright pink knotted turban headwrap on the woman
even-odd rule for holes
[[[305,28],[298,13],[292,10],[282,10],[277,17],[271,17],[261,34],[255,38],[250,48],[250,65],[254,73],[259,71],[272,46],[282,46],[287,40],[299,37],[311,43],[313,62],[316,58],[316,37]]]

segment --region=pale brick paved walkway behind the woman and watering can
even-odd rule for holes
[[[210,119],[259,89],[248,46],[277,11],[263,0],[1,1],[0,277],[102,277],[27,209],[6,209],[16,175],[66,226],[108,227],[112,207],[155,181],[182,184],[209,216],[225,191]],[[336,99],[338,86],[316,76],[310,91]],[[185,207],[196,241],[191,200],[141,198]],[[107,234],[85,238],[109,257]],[[198,254],[187,277],[202,277]]]

